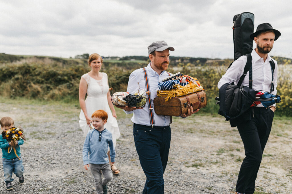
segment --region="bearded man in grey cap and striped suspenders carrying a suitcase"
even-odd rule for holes
[[[138,90],[138,83],[140,88],[149,86],[150,104],[146,103],[144,108],[117,106],[124,109],[126,114],[133,113],[131,120],[134,123],[135,146],[141,167],[146,175],[143,194],[164,193],[163,173],[170,147],[171,117],[155,114],[152,107],[153,99],[157,97],[158,82],[169,76],[166,72],[169,65],[169,51],[174,51],[174,48],[168,46],[165,41],[153,42],[148,46],[148,55],[151,62],[147,67],[133,71],[129,77],[127,91],[131,94]],[[147,74],[149,81],[145,82],[144,73]],[[190,116],[198,111],[199,109],[193,111],[191,106],[188,109],[188,114],[184,114],[183,117]]]

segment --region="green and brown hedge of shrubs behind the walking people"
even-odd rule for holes
[[[170,66],[168,71],[180,71],[197,78],[207,94],[208,105],[202,112],[217,114],[219,106],[215,105],[218,96],[217,83],[225,73],[230,60],[212,65],[193,65],[178,63],[177,67]],[[104,63],[102,72],[108,74],[109,86],[114,91],[126,91],[128,78],[134,69],[146,66],[144,63]],[[282,68],[283,66],[281,66]],[[285,67],[290,68],[290,67]],[[179,69],[179,70],[178,70]],[[42,100],[78,100],[79,82],[83,74],[89,71],[85,63],[68,63],[65,66],[59,62],[46,64],[39,60],[35,63],[5,63],[0,65],[0,95],[10,98],[27,97]],[[282,70],[278,80],[278,94],[282,102],[277,104],[277,115],[292,116],[292,86],[288,70]]]

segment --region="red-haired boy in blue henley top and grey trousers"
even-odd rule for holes
[[[107,122],[107,113],[103,110],[95,111],[92,115],[94,129],[88,131],[83,145],[83,165],[85,170],[90,171],[95,181],[95,189],[98,194],[107,194],[107,183],[112,180],[112,170],[107,156],[108,147],[110,149],[110,159],[112,164],[116,155],[112,142],[112,133],[104,129]],[[88,154],[89,152],[89,154]],[[104,178],[101,178],[101,172]]]

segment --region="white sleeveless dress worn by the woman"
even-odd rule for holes
[[[93,79],[88,74],[84,74],[81,77],[83,77],[87,82],[87,97],[85,99],[87,115],[88,117],[91,117],[91,115],[99,109],[107,112],[108,118],[104,128],[112,133],[114,147],[116,147],[117,139],[121,134],[119,131],[117,119],[112,116],[112,112],[107,102],[107,92],[109,91],[107,74],[102,72],[101,80]],[[79,118],[79,125],[83,131],[84,137],[86,137],[89,131],[89,125],[86,124],[86,118],[82,110],[80,112]]]

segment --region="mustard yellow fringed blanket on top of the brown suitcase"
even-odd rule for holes
[[[171,99],[172,97],[184,96],[187,94],[204,90],[200,82],[197,81],[196,78],[193,79],[194,80],[190,81],[190,83],[185,86],[181,86],[179,84],[173,85],[174,88],[173,90],[159,90],[157,91],[157,96],[166,97],[165,101],[168,101],[168,99]]]

